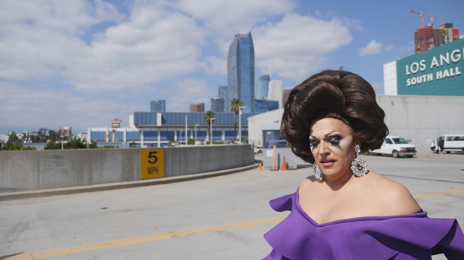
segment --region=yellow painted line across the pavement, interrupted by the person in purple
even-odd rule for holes
[[[436,196],[452,194],[452,193],[457,193],[457,192],[464,192],[464,188],[452,190],[452,191],[425,193],[422,195],[416,195],[414,196],[414,198],[415,199],[430,198],[430,197],[436,197]],[[17,255],[5,258],[5,260],[42,259],[46,257],[59,256],[59,255],[64,255],[64,254],[74,254],[74,253],[80,253],[80,252],[85,252],[85,251],[90,251],[90,250],[95,250],[95,249],[101,249],[101,248],[111,248],[111,247],[117,247],[117,246],[138,244],[138,243],[148,242],[148,241],[163,240],[163,239],[180,237],[180,236],[203,234],[203,233],[220,231],[220,230],[238,229],[238,228],[258,226],[258,225],[264,225],[264,224],[270,224],[270,223],[278,223],[284,220],[284,218],[285,217],[272,217],[272,218],[264,218],[264,219],[258,219],[258,220],[252,220],[252,221],[232,223],[232,224],[224,224],[224,225],[219,225],[219,226],[211,226],[211,227],[205,227],[205,228],[185,229],[185,230],[180,230],[180,231],[172,231],[172,232],[153,234],[153,235],[142,235],[142,236],[129,237],[129,238],[123,238],[123,239],[118,239],[118,240],[85,244],[85,245],[74,246],[74,247],[57,248],[57,249],[38,251],[38,252],[32,252],[32,253],[17,254]]]

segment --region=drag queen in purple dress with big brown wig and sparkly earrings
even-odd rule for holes
[[[404,186],[359,157],[388,134],[366,80],[322,71],[296,86],[284,109],[281,132],[313,175],[270,201],[291,212],[264,235],[272,251],[263,260],[464,260],[456,219],[427,217]]]

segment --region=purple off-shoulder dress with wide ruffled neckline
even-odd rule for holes
[[[464,260],[464,235],[456,219],[420,212],[318,224],[298,204],[298,189],[269,204],[291,212],[264,234],[272,251],[262,260],[431,260],[432,254]]]

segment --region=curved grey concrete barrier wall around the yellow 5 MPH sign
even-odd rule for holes
[[[164,149],[165,177],[251,165],[251,145]],[[142,149],[69,149],[0,152],[0,192],[38,190],[141,179]]]

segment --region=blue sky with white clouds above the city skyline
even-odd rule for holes
[[[383,94],[383,64],[414,53],[419,9],[464,34],[462,0],[3,0],[0,133],[127,126],[154,99],[209,109],[227,82],[228,45],[248,31],[256,78],[271,67],[291,88],[343,64]]]

